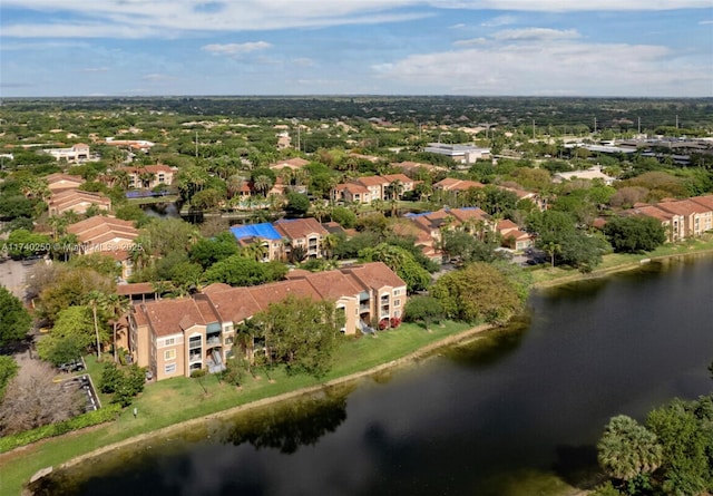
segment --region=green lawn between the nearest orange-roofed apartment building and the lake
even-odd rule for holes
[[[270,377],[273,381],[270,381],[264,371],[260,371],[257,373],[262,377],[258,379],[246,375],[243,388],[238,390],[219,383],[215,376],[207,376],[204,379],[207,395],[197,379],[176,378],[148,385],[144,393],[115,422],[0,455],[0,494],[19,495],[22,485],[37,470],[58,466],[94,449],[173,424],[368,370],[469,327],[465,323],[446,322],[442,327],[433,325],[432,331],[427,332],[420,327],[403,324],[399,329],[379,332],[375,337],[345,338],[335,356],[334,367],[326,377],[319,380],[309,376],[287,376],[283,370],[275,370]],[[106,359],[110,360],[110,357],[107,356]],[[96,362],[96,357],[87,357],[87,367],[97,385],[101,364]],[[108,401],[104,395],[100,399],[102,403]],[[134,407],[138,410],[136,419],[130,412]]]

